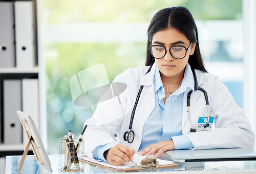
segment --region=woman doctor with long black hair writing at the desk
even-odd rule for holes
[[[85,154],[123,165],[133,160],[135,152],[157,153],[158,157],[175,149],[253,147],[254,134],[242,109],[220,79],[204,67],[190,12],[185,7],[158,11],[147,35],[145,67],[118,75],[113,82],[125,83],[125,91],[98,103],[93,117],[86,121]],[[205,94],[195,88],[205,90],[209,105]],[[134,139],[129,142],[127,133],[131,130]],[[114,134],[121,144],[116,143]]]

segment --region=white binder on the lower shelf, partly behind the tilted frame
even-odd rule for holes
[[[38,79],[22,79],[22,111],[29,113],[34,120],[35,126],[39,128],[39,103],[38,103]],[[23,133],[23,142],[28,142],[27,133]]]

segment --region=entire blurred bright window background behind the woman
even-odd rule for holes
[[[78,136],[92,116],[91,107],[73,104],[70,78],[104,63],[112,82],[125,69],[144,66],[151,18],[162,8],[180,5],[196,20],[207,70],[244,107],[242,0],[44,0],[49,154],[58,154],[57,140],[69,130]]]

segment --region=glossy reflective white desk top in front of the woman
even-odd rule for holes
[[[22,156],[6,156],[6,169],[5,173],[17,173],[19,162]],[[161,158],[168,159],[167,156],[162,155]],[[71,172],[60,172],[58,170],[58,161],[59,156],[58,155],[49,155],[49,159],[51,162],[51,166],[53,169],[52,173],[71,173]],[[36,163],[34,156],[27,156],[25,163],[23,165],[23,169],[21,173],[23,174],[39,174],[44,173],[48,174],[51,173],[47,171],[46,169],[39,167]],[[156,169],[156,170],[137,170],[135,172],[143,172],[149,173],[149,172],[161,172],[161,173],[191,173],[191,171],[197,171],[196,173],[256,173],[256,161],[219,161],[219,162],[185,162],[180,163],[178,166],[170,167],[170,168],[164,168],[164,169]],[[198,172],[201,171],[201,172]],[[124,171],[114,171],[110,169],[105,169],[98,166],[93,166],[89,164],[84,165],[84,171],[83,172],[76,172],[76,173],[123,173]],[[131,172],[131,171],[129,171]]]

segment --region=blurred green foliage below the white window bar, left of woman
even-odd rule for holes
[[[145,43],[48,44],[45,52],[49,153],[56,154],[56,140],[69,130],[79,135],[84,121],[92,116],[91,107],[73,104],[70,78],[86,68],[104,63],[111,82],[127,68],[142,67],[146,49]]]

